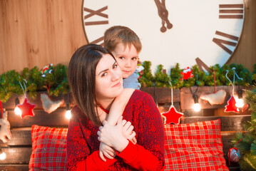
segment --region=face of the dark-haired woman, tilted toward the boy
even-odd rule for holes
[[[96,100],[116,98],[122,92],[121,69],[110,54],[105,54],[96,67]]]

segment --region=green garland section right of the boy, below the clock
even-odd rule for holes
[[[231,86],[230,81],[225,77],[227,70],[230,71],[233,67],[235,67],[235,72],[237,75],[242,78],[242,80],[236,79],[235,85],[240,86],[250,86],[256,83],[256,64],[254,65],[254,71],[250,73],[247,68],[244,68],[241,64],[231,64],[224,65],[220,67],[220,65],[216,64],[215,66],[210,66],[210,73],[205,73],[204,71],[200,71],[198,65],[192,66],[191,69],[193,71],[193,78],[189,78],[188,80],[181,80],[180,78],[183,75],[180,73],[183,69],[180,68],[179,63],[175,65],[174,68],[171,69],[170,75],[163,72],[163,66],[159,65],[157,71],[155,72],[155,76],[151,73],[150,70],[151,63],[150,61],[145,61],[143,63],[143,75],[139,79],[140,84],[143,87],[170,87],[168,81],[170,80],[173,88],[183,88],[183,87],[191,87],[191,86]],[[233,77],[233,72],[229,72],[227,74],[228,78]],[[214,81],[215,75],[215,81]]]

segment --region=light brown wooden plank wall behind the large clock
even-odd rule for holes
[[[67,64],[86,44],[82,0],[0,0],[0,74],[48,63]],[[256,63],[256,1],[245,0],[245,24],[239,45],[227,63]],[[162,63],[164,64],[164,63]]]

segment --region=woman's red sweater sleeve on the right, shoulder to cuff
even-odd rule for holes
[[[133,97],[133,115],[137,130],[138,144],[129,142],[118,154],[137,170],[163,170],[164,168],[164,128],[163,120],[153,98],[138,90]],[[128,109],[127,109],[128,110]]]

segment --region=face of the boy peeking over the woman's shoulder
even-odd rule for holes
[[[137,64],[138,64],[138,52],[133,44],[126,47],[123,46],[123,43],[118,43],[113,55],[118,62],[118,66],[121,68],[123,78],[128,78],[132,73],[134,73]]]

